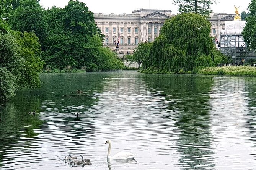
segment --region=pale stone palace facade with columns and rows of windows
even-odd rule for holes
[[[158,37],[166,19],[175,15],[171,10],[134,10],[132,14],[94,14],[95,23],[105,35],[104,46],[115,50],[114,40],[120,33],[119,53],[133,53],[140,42],[152,42]],[[212,14],[209,21],[212,24],[211,36],[220,37],[225,30],[225,21],[234,20],[235,14]]]

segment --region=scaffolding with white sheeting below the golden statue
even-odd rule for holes
[[[221,53],[230,56],[233,63],[241,62],[243,59],[246,61],[256,57],[255,51],[246,48],[246,43],[243,40],[241,32],[221,34],[219,43]]]

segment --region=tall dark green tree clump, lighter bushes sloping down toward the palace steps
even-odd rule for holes
[[[70,66],[92,72],[124,67],[116,54],[102,46],[103,35],[85,3],[70,0],[64,9],[48,9],[46,18],[49,34],[42,43],[42,58],[47,69]]]

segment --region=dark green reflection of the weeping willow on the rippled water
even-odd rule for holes
[[[191,75],[176,75],[171,79],[162,78],[147,79],[147,83],[153,91],[161,89],[166,101],[170,101],[165,118],[172,120],[177,128],[179,164],[184,169],[213,167],[212,132],[209,128],[212,77],[194,79]]]

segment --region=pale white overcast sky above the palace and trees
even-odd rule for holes
[[[251,0],[218,0],[217,4],[211,6],[214,13],[234,14],[234,5],[239,7],[239,13],[248,12],[247,8]],[[64,8],[69,0],[40,0],[44,8],[57,6]],[[89,10],[93,13],[116,13],[131,14],[133,10],[138,9],[158,9],[172,10],[172,14],[177,14],[177,6],[173,5],[173,0],[80,0],[86,3]]]

